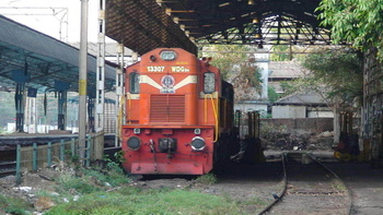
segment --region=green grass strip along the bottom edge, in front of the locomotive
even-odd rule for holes
[[[124,193],[128,192],[127,190]],[[184,190],[132,190],[126,195],[121,192],[92,193],[78,202],[61,204],[46,215],[59,214],[244,214],[232,202],[222,196]]]

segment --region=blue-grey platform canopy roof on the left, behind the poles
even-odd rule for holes
[[[77,92],[79,49],[0,15],[0,91],[13,91],[16,82],[26,87]],[[115,69],[106,65],[105,88],[113,89]],[[95,92],[96,58],[88,56],[88,88]]]

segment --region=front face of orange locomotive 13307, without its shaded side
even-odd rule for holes
[[[179,48],[154,49],[126,71],[124,168],[140,175],[209,172],[214,123],[200,121],[198,59]]]

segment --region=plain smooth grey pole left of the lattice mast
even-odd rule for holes
[[[89,0],[81,0],[81,32],[79,56],[79,157],[84,164],[86,141],[86,58],[88,58],[88,4]]]

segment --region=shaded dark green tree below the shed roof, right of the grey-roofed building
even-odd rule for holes
[[[302,65],[310,74],[301,86],[322,94],[333,104],[343,104],[345,108],[361,105],[362,57],[353,49],[326,49],[307,55]]]

